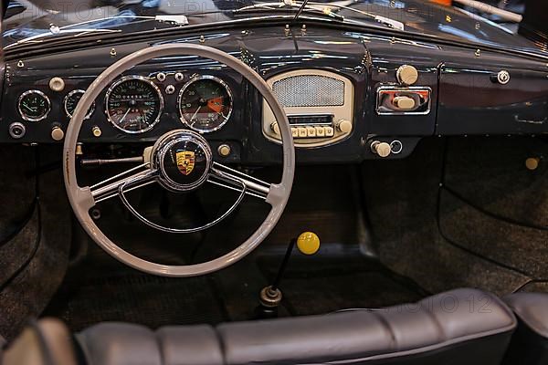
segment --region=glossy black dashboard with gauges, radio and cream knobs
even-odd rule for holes
[[[272,26],[8,60],[0,141],[61,143],[104,68],[170,42],[216,47],[258,71],[288,115],[300,162],[403,158],[432,135],[548,131],[543,61],[335,29],[288,35]],[[105,85],[79,140],[149,143],[180,128],[202,133],[217,159],[281,159],[279,127],[258,92],[199,57],[155,58]]]

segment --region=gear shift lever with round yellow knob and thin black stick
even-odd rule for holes
[[[259,318],[275,318],[278,317],[278,307],[283,295],[279,290],[279,284],[285,273],[286,267],[290,262],[291,253],[297,244],[297,248],[303,255],[314,255],[320,249],[320,238],[313,232],[304,232],[298,238],[293,238],[288,245],[286,254],[281,261],[278,269],[278,274],[272,282],[272,285],[263,287],[259,296],[259,307],[257,308]]]

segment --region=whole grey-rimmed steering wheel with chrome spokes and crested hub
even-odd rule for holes
[[[124,71],[149,59],[166,56],[197,56],[213,59],[227,65],[228,68],[236,70],[258,89],[258,92],[268,102],[279,124],[283,150],[283,172],[279,183],[266,183],[246,173],[214,162],[211,147],[204,137],[195,131],[180,129],[171,130],[161,136],[154,143],[152,149],[148,149],[148,153],[144,154],[145,158],[142,165],[121,172],[100,183],[91,186],[79,186],[76,176],[75,152],[79,130],[91,103],[99,96],[102,89],[110,85],[114,78],[118,78]],[[216,48],[193,44],[168,44],[148,47],[123,57],[111,67],[106,68],[91,83],[90,88],[79,100],[73,117],[68,124],[62,160],[68,201],[79,223],[88,235],[108,254],[122,263],[158,276],[204,275],[234,264],[248,255],[260,245],[278,223],[279,217],[288,202],[295,172],[295,149],[290,132],[290,123],[267,83],[258,76],[257,72],[236,57],[232,57]],[[124,193],[149,183],[158,183],[164,189],[175,193],[193,191],[204,183],[214,183],[231,190],[237,190],[240,193],[236,203],[213,222],[196,228],[175,229],[149,221],[142,214],[139,214],[125,197]],[[164,232],[189,233],[219,223],[234,211],[246,194],[264,199],[270,204],[270,211],[265,220],[244,243],[237,246],[233,251],[211,261],[195,265],[162,265],[132,255],[104,235],[90,217],[90,208],[96,203],[118,195],[122,203],[142,223]]]

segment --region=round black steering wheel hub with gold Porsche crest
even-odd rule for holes
[[[156,141],[151,156],[159,183],[177,193],[205,183],[213,154],[209,143],[195,131],[172,130]]]

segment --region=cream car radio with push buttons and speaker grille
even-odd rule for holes
[[[329,71],[290,71],[267,83],[290,121],[296,147],[319,147],[340,141],[353,130],[353,84]],[[280,142],[279,125],[263,101],[263,134]]]

